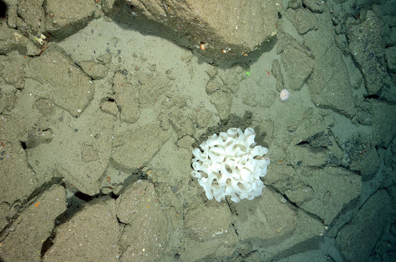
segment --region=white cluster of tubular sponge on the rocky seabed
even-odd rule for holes
[[[260,180],[267,174],[270,161],[263,157],[268,149],[255,146],[255,133],[247,128],[230,128],[220,135],[213,134],[193,150],[191,175],[198,178],[206,197],[221,201],[225,196],[238,203],[241,199],[252,200],[261,195],[264,187]]]

